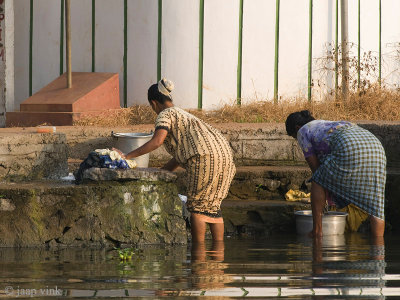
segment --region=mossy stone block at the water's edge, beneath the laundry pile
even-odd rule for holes
[[[123,181],[114,174],[102,181],[111,179],[109,171],[102,177],[90,170],[98,181],[89,172],[79,186],[0,184],[0,247],[186,243],[173,173],[142,172],[141,180]]]

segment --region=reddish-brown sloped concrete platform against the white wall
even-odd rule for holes
[[[6,126],[68,126],[87,114],[120,108],[118,74],[74,72],[72,84],[66,88],[63,74],[21,103],[19,112],[8,112]]]

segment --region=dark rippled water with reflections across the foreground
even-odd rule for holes
[[[115,250],[0,249],[0,297],[400,297],[400,238],[352,234],[322,244],[295,235]]]

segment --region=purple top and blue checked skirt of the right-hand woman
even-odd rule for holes
[[[299,129],[297,140],[306,158],[318,157],[312,180],[331,192],[339,208],[352,203],[385,218],[386,155],[371,132],[345,121],[315,120]]]

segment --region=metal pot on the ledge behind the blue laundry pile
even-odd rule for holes
[[[152,133],[111,133],[114,139],[114,147],[124,153],[129,153],[144,145],[153,137]],[[138,168],[147,168],[149,166],[149,154],[134,158]]]

